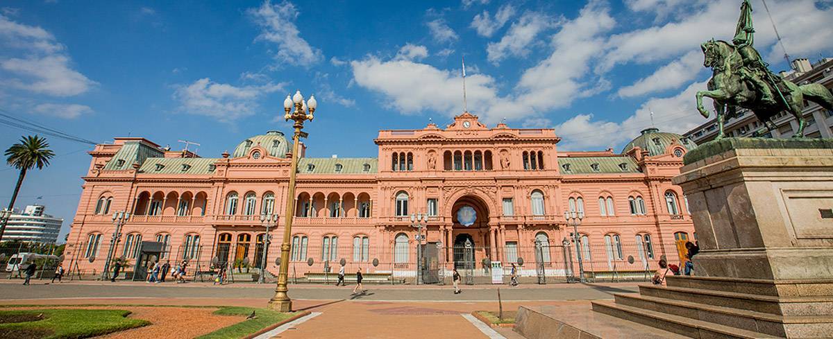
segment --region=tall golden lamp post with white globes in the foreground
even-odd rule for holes
[[[295,96],[283,101],[283,109],[286,114],[283,118],[295,123],[295,133],[292,135],[292,165],[289,166],[289,187],[287,188],[287,210],[284,211],[286,221],[283,228],[283,243],[281,243],[281,267],[277,273],[277,287],[275,296],[269,301],[269,307],[278,312],[292,312],[292,299],[287,295],[287,278],[289,276],[289,250],[292,245],[289,243],[292,238],[292,214],[295,212],[295,174],[298,170],[298,140],[306,138],[307,133],[302,132],[304,121],[312,121],[312,113],[315,112],[317,101],[315,96],[304,101],[301,91],[296,91]],[[294,108],[294,111],[293,111]]]

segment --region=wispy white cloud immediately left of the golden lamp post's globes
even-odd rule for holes
[[[194,115],[206,115],[222,122],[233,122],[255,114],[257,99],[281,91],[284,84],[268,83],[262,86],[232,86],[208,78],[190,85],[177,86],[173,98],[179,101],[180,111]]]

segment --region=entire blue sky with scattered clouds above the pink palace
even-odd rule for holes
[[[309,156],[375,156],[381,129],[443,125],[468,109],[488,125],[556,128],[562,150],[617,151],[651,125],[703,122],[699,44],[731,39],[740,0],[589,2],[0,2],[0,110],[88,140],[144,136],[217,157],[247,136],[288,133],[283,98],[315,94]],[[761,1],[756,47],[787,68]],[[770,0],[784,46],[833,52],[833,2]],[[0,125],[7,148],[24,131]],[[17,207],[64,219],[91,146],[50,139],[57,156]],[[17,172],[0,167],[0,203]],[[42,199],[37,199],[42,196]]]

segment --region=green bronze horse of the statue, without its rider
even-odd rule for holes
[[[755,113],[755,116],[764,123],[764,128],[756,130],[753,136],[761,136],[776,128],[770,120],[781,111],[788,111],[796,117],[798,130],[793,137],[804,136],[806,121],[802,115],[804,101],[813,101],[816,104],[833,111],[833,93],[821,84],[807,84],[798,86],[791,81],[782,80],[780,77],[764,70],[769,91],[775,93],[775,100],[764,100],[766,93],[752,83],[748,76],[743,76],[741,68],[746,67],[743,57],[736,47],[729,42],[715,41],[701,44],[705,60],[703,66],[712,70],[711,79],[708,82],[708,91],[697,92],[697,111],[704,117],[709,117],[709,111],[703,108],[703,97],[708,96],[714,100],[717,115],[717,125],[720,131],[716,140],[724,137],[724,122],[735,116],[737,107],[746,108]],[[760,57],[760,56],[759,56]]]

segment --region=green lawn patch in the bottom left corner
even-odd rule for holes
[[[123,310],[41,309],[0,311],[0,339],[87,338],[142,327]]]

